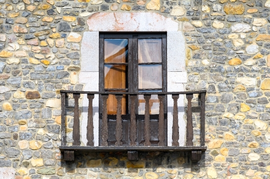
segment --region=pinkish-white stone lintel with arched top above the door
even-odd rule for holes
[[[178,23],[154,12],[96,12],[89,31],[177,31]]]

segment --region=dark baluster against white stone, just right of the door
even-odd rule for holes
[[[173,99],[173,116],[172,116],[172,146],[179,146],[179,126],[178,126],[178,106],[177,100],[179,95],[171,95]]]

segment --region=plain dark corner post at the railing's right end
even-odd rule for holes
[[[200,94],[200,145],[205,143],[205,93]]]

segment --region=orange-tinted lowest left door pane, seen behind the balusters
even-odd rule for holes
[[[121,109],[122,109],[122,113],[121,114],[126,114],[126,95],[123,95],[122,98],[122,103],[121,103]],[[116,115],[117,113],[117,100],[115,98],[115,95],[108,95],[108,99],[107,99],[107,114],[111,114],[111,115]]]

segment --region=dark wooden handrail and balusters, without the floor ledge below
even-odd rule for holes
[[[163,113],[163,102],[165,100],[163,95],[172,95],[173,99],[173,121],[172,121],[172,146],[179,146],[179,126],[178,126],[178,108],[177,108],[177,100],[180,94],[185,94],[187,99],[187,113],[186,113],[186,147],[194,147],[193,146],[193,125],[192,125],[192,111],[191,111],[191,100],[193,98],[193,94],[200,94],[200,146],[204,147],[204,134],[205,134],[205,95],[206,90],[200,91],[181,91],[181,92],[100,92],[100,91],[70,91],[70,90],[60,90],[61,95],[61,146],[66,146],[65,141],[65,97],[66,94],[72,93],[74,98],[74,120],[73,120],[73,146],[80,146],[80,132],[79,132],[79,112],[78,112],[78,99],[80,98],[80,94],[87,94],[87,98],[89,101],[88,105],[88,118],[87,118],[87,146],[93,146],[93,109],[92,109],[92,100],[94,98],[94,94],[100,94],[102,100],[101,111],[104,113],[102,115],[102,125],[101,125],[101,146],[108,146],[108,126],[107,126],[107,98],[108,95],[115,95],[117,99],[117,114],[116,114],[116,144],[115,146],[121,146],[121,113],[120,113],[120,101],[121,95],[130,95],[130,102],[133,104],[131,106],[130,112],[130,129],[134,130],[135,127],[135,100],[137,100],[136,95],[145,95],[145,118],[144,118],[144,146],[150,146],[150,127],[149,127],[149,99],[150,95],[158,95],[159,99],[159,126],[158,132],[162,131],[163,122],[164,122],[164,113]],[[177,135],[178,134],[178,135]],[[133,134],[132,134],[133,135]],[[160,135],[160,136],[159,136]],[[131,139],[132,138],[132,139]],[[130,135],[130,146],[135,146],[134,136]],[[158,146],[164,147],[164,134],[158,133]],[[160,141],[161,140],[161,141]],[[111,146],[112,147],[112,146]],[[204,147],[205,148],[205,147]]]

